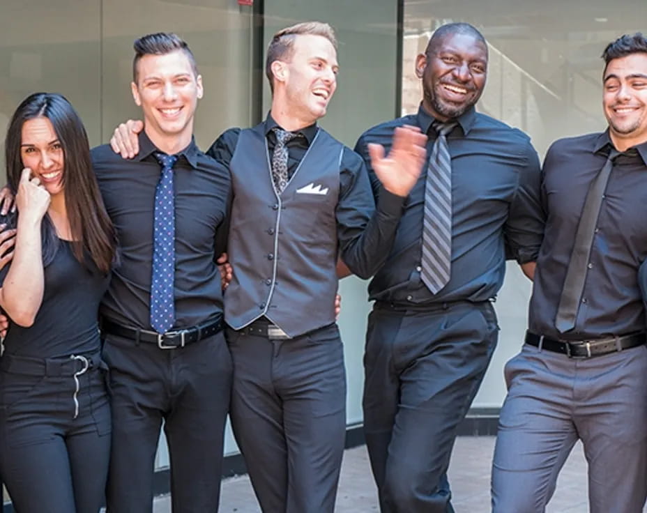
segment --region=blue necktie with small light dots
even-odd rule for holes
[[[167,332],[175,322],[175,202],[173,166],[177,155],[155,152],[162,175],[155,189],[153,212],[153,275],[151,279],[151,326]]]

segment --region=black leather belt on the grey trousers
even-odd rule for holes
[[[591,340],[565,340],[549,339],[536,333],[526,331],[526,344],[546,349],[554,353],[567,355],[568,358],[593,358],[593,356],[602,356],[623,349],[641,346],[646,342],[644,333],[633,333],[632,335],[623,335],[622,337],[611,337],[607,339]]]

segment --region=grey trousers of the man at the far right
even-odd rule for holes
[[[545,511],[574,443],[588,461],[591,513],[639,513],[647,496],[647,348],[588,359],[524,345],[492,464],[494,513]]]

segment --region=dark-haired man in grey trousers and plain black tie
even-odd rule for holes
[[[591,513],[639,513],[647,497],[647,38],[602,58],[607,130],[560,139],[544,160],[546,233],[526,344],[505,365],[494,513],[545,511],[578,440]]]

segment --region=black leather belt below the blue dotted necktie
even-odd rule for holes
[[[192,342],[211,337],[211,335],[220,332],[222,328],[222,316],[218,317],[215,321],[209,321],[199,326],[185,328],[183,330],[167,331],[166,333],[121,326],[121,324],[113,323],[107,319],[104,319],[101,324],[101,329],[111,335],[125,337],[135,340],[135,342],[157,344],[160,349],[178,349],[184,347]]]

